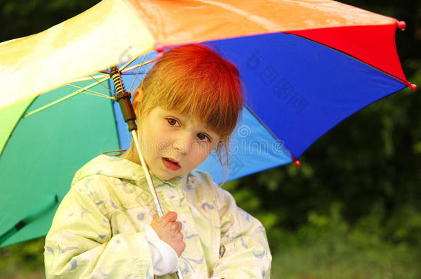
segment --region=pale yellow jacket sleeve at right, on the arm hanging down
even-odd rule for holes
[[[213,183],[221,220],[220,258],[212,276],[226,279],[270,278],[271,251],[259,220],[237,207],[233,196]]]

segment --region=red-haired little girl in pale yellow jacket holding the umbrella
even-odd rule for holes
[[[202,45],[168,50],[133,98],[139,145],[159,196],[158,218],[133,144],[75,174],[46,236],[47,278],[269,278],[262,224],[209,174],[243,105],[237,68]],[[228,162],[228,158],[227,158]]]

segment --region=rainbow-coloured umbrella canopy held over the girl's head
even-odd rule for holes
[[[44,236],[72,172],[128,147],[126,125],[108,99],[110,66],[119,65],[133,91],[141,61],[153,63],[175,45],[204,43],[235,63],[247,101],[231,141],[231,180],[298,165],[344,118],[415,89],[395,50],[397,27],[404,23],[335,1],[104,0],[1,43],[0,245]],[[224,180],[215,156],[199,169]]]

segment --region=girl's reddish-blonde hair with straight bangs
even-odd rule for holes
[[[241,116],[244,99],[237,68],[202,45],[165,52],[141,88],[140,119],[160,106],[193,116],[225,141]]]

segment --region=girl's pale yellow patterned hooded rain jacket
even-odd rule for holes
[[[209,174],[152,178],[164,214],[177,212],[183,224],[184,279],[270,278],[264,227]],[[140,165],[106,155],[92,159],[75,174],[46,236],[47,278],[153,278],[144,227],[155,212]]]

